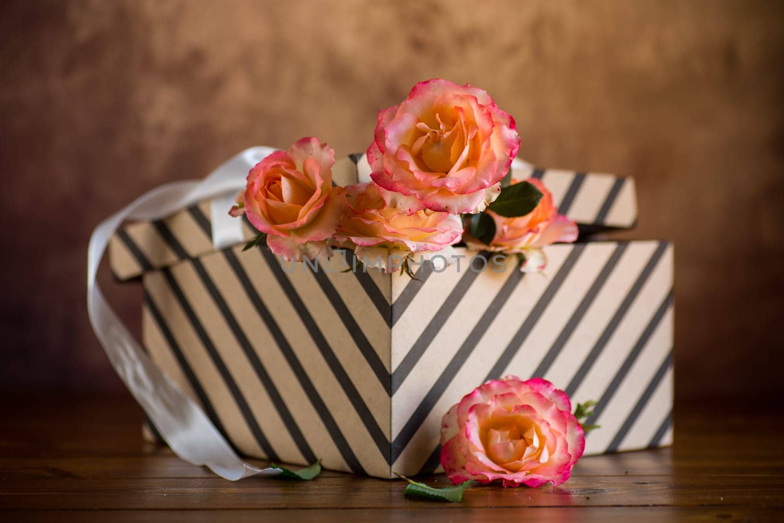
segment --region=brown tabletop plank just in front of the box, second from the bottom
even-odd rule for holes
[[[426,481],[447,485],[443,476]],[[0,509],[60,509],[88,507],[131,509],[269,509],[411,507],[404,484],[346,475],[303,484],[278,479],[249,479],[231,483],[221,478],[72,479],[34,478],[3,481]],[[576,477],[557,488],[466,489],[463,507],[597,507],[623,505],[749,505],[782,503],[784,476],[592,476]]]

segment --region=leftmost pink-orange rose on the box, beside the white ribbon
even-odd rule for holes
[[[250,170],[230,214],[244,212],[267,234],[270,250],[285,260],[327,254],[345,199],[342,187],[332,187],[334,163],[335,151],[316,138],[274,152]]]

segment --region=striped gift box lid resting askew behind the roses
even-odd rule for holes
[[[365,154],[350,154],[332,167],[332,180],[337,185],[352,185],[369,181],[370,172]],[[578,223],[581,237],[629,229],[637,222],[637,199],[630,177],[539,168],[520,158],[512,163],[512,177],[543,180],[559,212]],[[126,224],[109,243],[114,276],[125,281],[214,251],[212,212],[212,202],[205,200],[162,220]],[[244,241],[256,234],[247,223],[242,226]]]

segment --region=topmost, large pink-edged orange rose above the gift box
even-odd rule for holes
[[[498,197],[519,147],[514,118],[488,93],[434,79],[379,111],[368,162],[387,205],[481,212]]]

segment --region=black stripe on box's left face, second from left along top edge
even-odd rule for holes
[[[253,370],[256,371],[256,376],[259,376],[259,380],[263,384],[264,389],[267,390],[267,394],[270,396],[270,400],[275,406],[275,410],[278,411],[278,416],[281,416],[283,424],[285,425],[286,430],[289,430],[289,434],[296,444],[297,449],[302,453],[302,456],[306,459],[307,463],[314,463],[318,458],[310,449],[310,445],[307,444],[307,440],[302,434],[302,430],[299,430],[299,426],[294,420],[291,412],[289,412],[289,408],[286,406],[285,401],[283,401],[281,394],[278,392],[278,387],[275,387],[275,383],[272,381],[272,378],[270,378],[267,369],[264,368],[263,363],[259,359],[259,355],[256,354],[256,350],[253,350],[253,346],[250,343],[250,340],[248,340],[248,337],[245,336],[245,332],[239,325],[237,318],[234,318],[234,314],[231,314],[229,306],[220,294],[215,282],[212,281],[212,278],[210,278],[200,260],[191,260],[191,264],[196,270],[199,279],[201,279],[201,283],[204,284],[205,289],[207,289],[207,292],[209,292],[209,295],[212,297],[212,301],[215,302],[216,307],[220,310],[223,320],[226,321],[232,334],[234,334],[237,343],[242,347],[245,356],[248,357],[248,361],[250,361]]]

